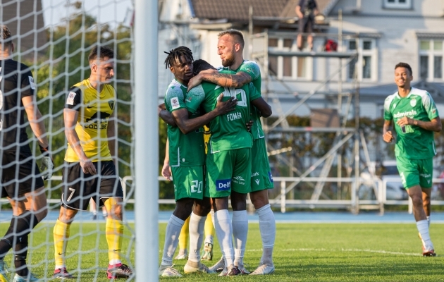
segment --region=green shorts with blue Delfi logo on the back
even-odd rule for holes
[[[247,194],[251,192],[249,180],[252,173],[251,149],[233,149],[206,155],[205,197],[228,197],[231,190]]]

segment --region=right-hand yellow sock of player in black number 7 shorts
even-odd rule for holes
[[[121,263],[121,250],[123,240],[123,224],[117,219],[106,219],[106,242],[108,242],[109,264]]]

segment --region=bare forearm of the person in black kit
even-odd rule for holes
[[[44,127],[44,122],[42,120],[42,114],[39,108],[34,102],[33,96],[27,96],[22,98],[23,106],[25,106],[27,120],[30,121],[32,132],[35,137],[39,140],[39,145],[42,148],[47,148],[49,146],[47,139],[47,130]]]

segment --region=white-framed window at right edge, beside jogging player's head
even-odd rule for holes
[[[419,41],[419,78],[427,81],[443,80],[443,39]]]

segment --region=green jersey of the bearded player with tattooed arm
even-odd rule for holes
[[[227,71],[229,68],[221,68],[223,71]],[[252,83],[254,87],[256,87],[259,94],[261,93],[261,69],[259,68],[259,65],[254,61],[248,61],[244,60],[242,65],[239,66],[237,70],[235,70],[236,73],[243,71],[244,73],[247,73],[252,78]],[[253,121],[252,126],[252,135],[253,139],[257,140],[259,138],[264,138],[264,130],[262,129],[261,124],[261,112],[256,109],[255,106],[252,106],[251,109],[251,119]]]

